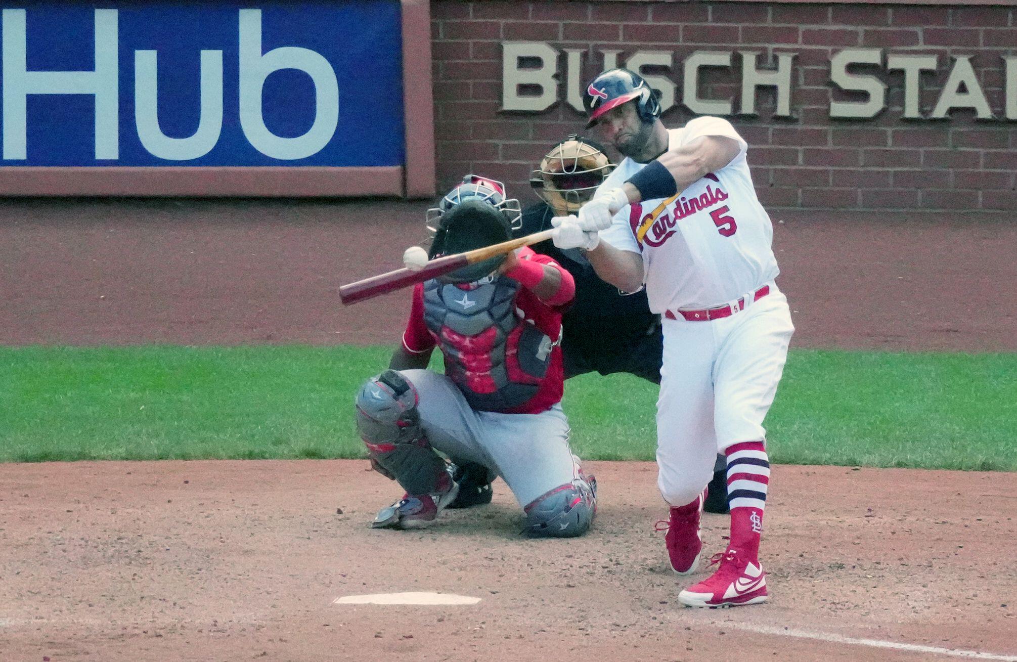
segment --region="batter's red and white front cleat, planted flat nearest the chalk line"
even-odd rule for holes
[[[759,604],[769,598],[766,591],[766,573],[758,560],[745,558],[733,547],[728,547],[710,559],[720,567],[708,580],[695,584],[678,594],[678,602],[686,607],[737,607]]]

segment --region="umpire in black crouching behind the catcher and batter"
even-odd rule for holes
[[[603,147],[593,140],[570,135],[554,145],[530,179],[543,202],[524,209],[523,226],[515,236],[547,230],[552,218],[577,214],[612,170]],[[550,241],[532,248],[553,257],[576,281],[575,302],[561,318],[565,379],[587,372],[627,372],[659,384],[663,334],[659,316],[650,312],[646,291],[623,293],[605,283],[579,249],[562,250]],[[483,467],[462,466],[458,478],[460,496],[450,507],[490,501]],[[726,464],[718,456],[704,509],[723,514],[727,508]]]

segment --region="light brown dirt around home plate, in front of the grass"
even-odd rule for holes
[[[0,659],[1017,660],[1017,474],[777,467],[772,601],[707,611],[676,603],[655,468],[590,464],[602,507],[575,540],[519,537],[503,483],[371,530],[397,494],[363,462],[0,465]],[[726,521],[706,516],[710,552]],[[403,591],[481,601],[333,604]]]

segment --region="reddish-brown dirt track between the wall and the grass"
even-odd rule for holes
[[[405,293],[338,290],[402,266],[426,206],[6,200],[0,344],[395,343]],[[1017,351],[1008,217],[771,216],[795,347]]]

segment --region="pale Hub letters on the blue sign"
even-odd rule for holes
[[[116,160],[119,135],[119,29],[116,9],[95,12],[95,69],[92,71],[31,71],[24,9],[3,10],[3,158],[27,159],[26,108],[29,95],[92,95],[96,100],[96,160]],[[273,159],[304,159],[320,152],[339,123],[336,71],[320,53],[306,48],[261,50],[261,10],[240,9],[239,114],[250,144]],[[46,41],[44,35],[32,36]],[[197,130],[187,137],[170,137],[160,129],[158,115],[158,51],[134,51],[134,123],[141,144],[152,155],[170,161],[202,157],[219,142],[223,128],[223,51],[200,52],[200,111]],[[280,69],[303,71],[314,83],[314,121],[303,134],[276,135],[261,112],[264,81]]]

